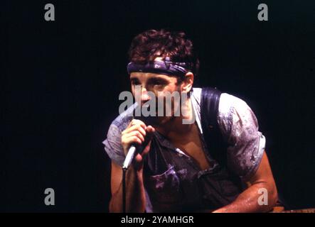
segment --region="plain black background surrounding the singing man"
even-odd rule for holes
[[[260,3],[269,21],[257,20]],[[129,90],[129,44],[149,28],[187,33],[196,87],[244,99],[287,206],[315,206],[314,1],[2,1],[0,20],[0,211],[107,211],[102,140]]]

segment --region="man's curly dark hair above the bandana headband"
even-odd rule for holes
[[[193,50],[193,43],[183,32],[166,31],[165,29],[148,30],[140,33],[132,40],[129,48],[129,61],[146,63],[156,57],[170,57],[173,62],[186,62],[188,70],[198,74],[199,60]]]

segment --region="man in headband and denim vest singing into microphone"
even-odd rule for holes
[[[193,88],[199,64],[191,40],[184,33],[145,31],[132,40],[129,60],[132,94],[141,87],[139,106],[153,99],[149,92],[188,98],[180,104],[172,99],[171,114],[149,123],[131,116],[134,107],[112,122],[103,142],[112,159],[110,211],[123,210],[122,163],[131,145],[142,151],[125,177],[127,212],[272,209],[277,189],[255,114],[235,96]],[[210,104],[215,95],[216,106]],[[182,113],[176,116],[178,105]],[[215,117],[208,127],[210,113]]]

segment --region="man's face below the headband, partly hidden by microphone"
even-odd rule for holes
[[[149,72],[132,72],[130,74],[130,82],[132,85],[132,94],[134,96],[136,96],[136,86],[141,86],[141,92],[139,92],[141,94],[141,99],[139,99],[141,100],[141,106],[151,99],[151,97],[148,95],[148,92],[154,93],[154,96],[156,97],[156,116],[158,115],[158,99],[164,100],[164,114],[163,116],[159,116],[155,119],[157,124],[163,125],[169,121],[171,118],[173,118],[175,110],[180,108],[180,101],[178,102],[172,99],[170,106],[171,116],[166,116],[166,94],[168,92],[171,94],[173,92],[178,92],[178,94],[181,94],[181,84],[178,84],[176,77]]]

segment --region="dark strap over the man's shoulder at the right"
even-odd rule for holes
[[[213,87],[201,90],[201,127],[211,157],[225,165],[227,145],[218,126],[220,96],[221,92]]]

